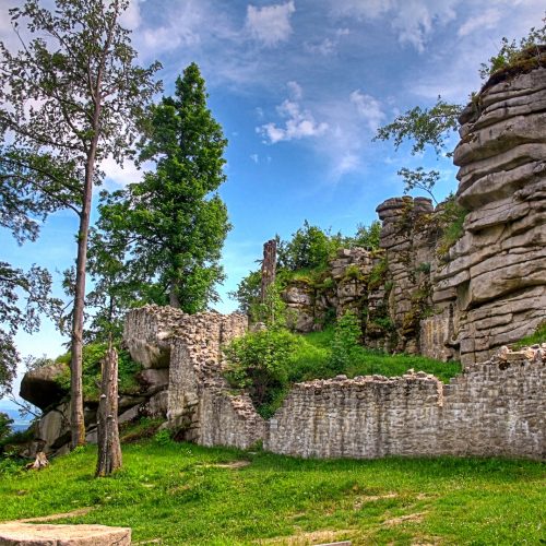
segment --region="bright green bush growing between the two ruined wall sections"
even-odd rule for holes
[[[250,332],[224,348],[229,384],[246,389],[263,417],[271,416],[288,385],[288,364],[299,337],[285,330]]]

